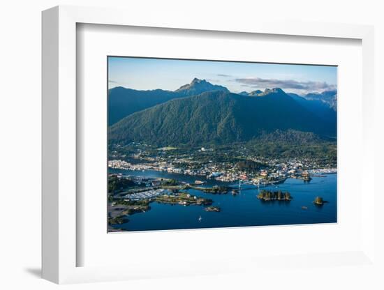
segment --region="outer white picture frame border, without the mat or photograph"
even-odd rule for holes
[[[284,264],[287,259],[258,257],[232,258],[225,266],[212,261],[202,266],[196,259],[189,264],[168,264],[158,268],[127,264],[126,266],[77,266],[77,107],[76,107],[76,25],[105,24],[144,26],[196,31],[232,31],[233,33],[266,33],[270,35],[304,36],[309,38],[352,38],[362,41],[362,114],[363,149],[362,183],[367,199],[361,204],[362,247],[353,252],[316,252],[289,257],[288,265],[303,265],[307,260],[321,266],[334,266],[343,261],[357,266],[375,265],[374,195],[369,170],[374,168],[374,29],[353,24],[301,22],[267,22],[253,20],[231,23],[219,17],[196,21],[195,17],[162,17],[146,19],[130,11],[57,6],[43,12],[43,278],[56,283],[128,280],[138,277],[167,277],[177,275],[234,273],[246,264],[249,273],[271,263]],[[336,263],[338,264],[338,263]]]

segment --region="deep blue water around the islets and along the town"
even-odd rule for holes
[[[169,174],[161,171],[130,171],[110,169],[131,176],[175,178],[178,181],[193,183],[195,180],[207,181],[205,186],[230,185],[201,176]],[[189,190],[193,195],[212,199],[213,206],[221,208],[220,213],[206,212],[204,206],[180,206],[169,204],[151,204],[146,213],[131,215],[129,222],[119,224],[117,228],[126,231],[146,231],[164,229],[201,229],[213,227],[246,227],[281,224],[316,224],[337,222],[337,174],[325,177],[313,177],[311,182],[288,178],[285,183],[263,187],[267,190],[290,192],[293,200],[263,202],[257,199],[259,192],[254,185],[243,185],[237,196],[232,194],[207,194],[199,190]],[[262,188],[260,188],[261,190]],[[319,207],[313,204],[316,196],[323,197],[327,204]],[[303,210],[302,206],[307,206]],[[199,221],[198,218],[202,217]]]

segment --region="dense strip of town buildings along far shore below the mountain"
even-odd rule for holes
[[[175,148],[161,148],[156,155],[148,154],[140,149],[140,153],[131,156],[119,155],[115,151],[113,159],[108,161],[112,169],[126,169],[134,171],[166,171],[173,174],[186,174],[190,176],[204,176],[216,181],[236,182],[242,181],[255,185],[269,185],[281,183],[286,178],[300,178],[311,181],[311,175],[337,173],[336,165],[322,162],[317,158],[261,158],[260,156],[240,155],[232,160],[223,159],[214,155],[213,149],[199,148],[195,153],[184,151],[177,154]],[[241,153],[241,152],[240,152]],[[201,158],[208,155],[209,160]],[[226,155],[226,153],[224,153]]]

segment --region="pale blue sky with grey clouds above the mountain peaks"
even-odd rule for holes
[[[336,89],[337,67],[226,61],[187,61],[108,57],[109,89],[174,91],[194,77],[226,86],[230,91],[279,87],[286,92],[312,93]]]

